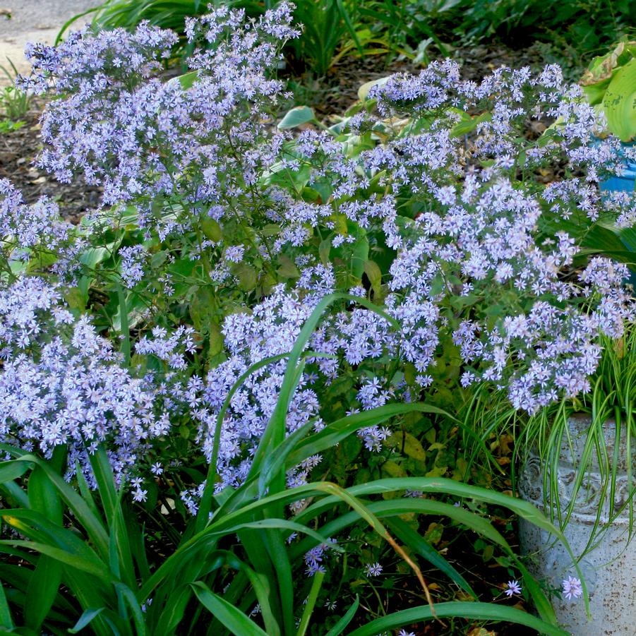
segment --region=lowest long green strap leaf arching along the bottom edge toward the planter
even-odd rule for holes
[[[496,603],[476,603],[467,601],[448,601],[446,603],[437,603],[435,612],[438,618],[472,618],[474,620],[496,620],[505,623],[517,623],[518,625],[526,625],[548,636],[569,636],[569,633],[550,623],[546,623],[536,616],[532,616],[527,612],[521,611],[514,607],[498,605]],[[361,628],[349,632],[348,636],[377,636],[381,632],[409,625],[410,623],[419,623],[421,620],[431,620],[435,618],[433,612],[428,605],[404,609],[394,612],[382,618],[371,620]]]

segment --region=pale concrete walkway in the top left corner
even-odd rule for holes
[[[102,0],[0,0],[0,64],[8,66],[8,57],[20,72],[28,72],[27,42],[53,44],[67,20],[100,4]],[[80,18],[74,26],[80,28],[91,17]],[[7,83],[4,74],[0,76],[0,85]]]

